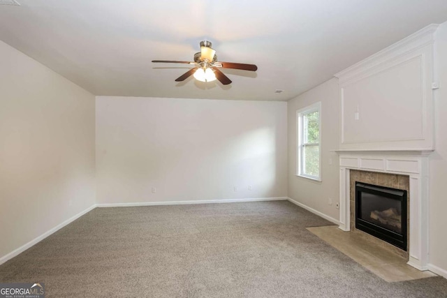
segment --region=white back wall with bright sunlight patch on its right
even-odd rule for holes
[[[98,96],[98,203],[286,197],[286,111],[285,102]]]

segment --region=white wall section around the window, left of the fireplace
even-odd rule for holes
[[[296,110],[321,101],[321,182],[296,176]],[[334,78],[288,101],[288,197],[339,219],[339,84]],[[328,199],[332,198],[332,205]]]

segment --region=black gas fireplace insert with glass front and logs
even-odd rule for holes
[[[406,190],[356,181],[356,229],[406,251]]]

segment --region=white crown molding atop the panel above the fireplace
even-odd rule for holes
[[[339,78],[340,84],[344,84],[351,80],[351,78],[358,77],[361,73],[386,63],[390,59],[400,57],[425,45],[430,45],[434,43],[434,32],[438,27],[439,24],[430,24],[397,43],[376,52],[376,54],[372,54],[353,66],[336,73],[334,76]]]

